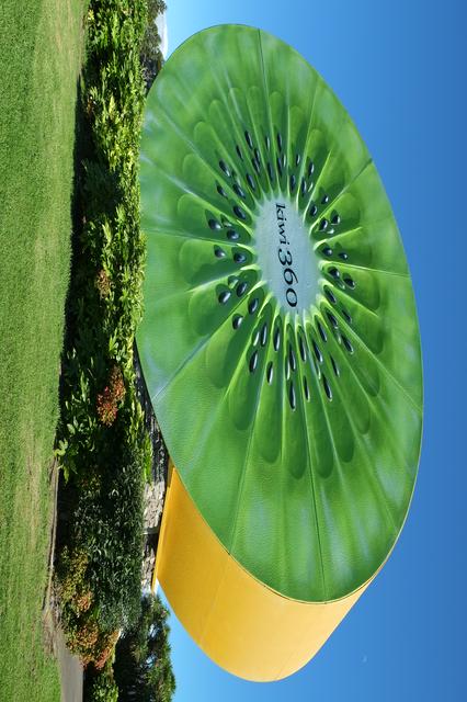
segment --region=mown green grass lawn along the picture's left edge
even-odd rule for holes
[[[43,646],[83,0],[0,12],[0,700],[60,699]]]

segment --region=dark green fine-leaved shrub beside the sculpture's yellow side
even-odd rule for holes
[[[139,611],[143,554],[144,444],[139,426],[126,422],[127,408],[112,427],[104,465],[91,467],[76,480],[75,540],[89,555],[88,579],[110,630],[130,625]],[[128,412],[129,414],[129,412]],[[138,415],[137,415],[138,417]],[[132,428],[137,432],[132,437]],[[121,433],[124,437],[119,435]],[[141,437],[143,438],[143,437]],[[114,452],[118,446],[118,453]]]

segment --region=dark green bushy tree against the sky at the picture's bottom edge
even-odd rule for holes
[[[169,612],[160,598],[145,596],[137,624],[118,641],[114,675],[118,700],[170,702],[175,678],[170,661]]]

